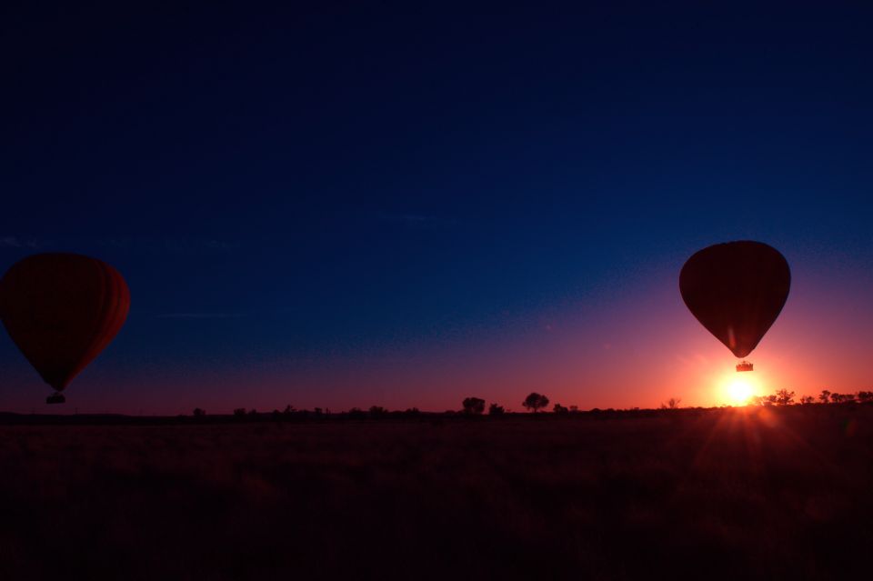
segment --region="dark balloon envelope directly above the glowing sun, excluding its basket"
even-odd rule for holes
[[[790,287],[785,256],[751,241],[708,246],[688,258],[679,275],[688,310],[738,357],[758,346]]]

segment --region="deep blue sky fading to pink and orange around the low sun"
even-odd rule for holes
[[[0,7],[0,272],[131,289],[65,412],[732,403],[678,273],[742,239],[753,391],[873,385],[873,6],[286,4]]]

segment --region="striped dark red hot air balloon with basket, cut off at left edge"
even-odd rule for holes
[[[0,320],[63,403],[62,391],[125,324],[130,292],[110,265],[73,254],[27,256],[0,279]]]

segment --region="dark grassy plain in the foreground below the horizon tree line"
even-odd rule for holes
[[[873,406],[0,426],[0,579],[873,578]]]

